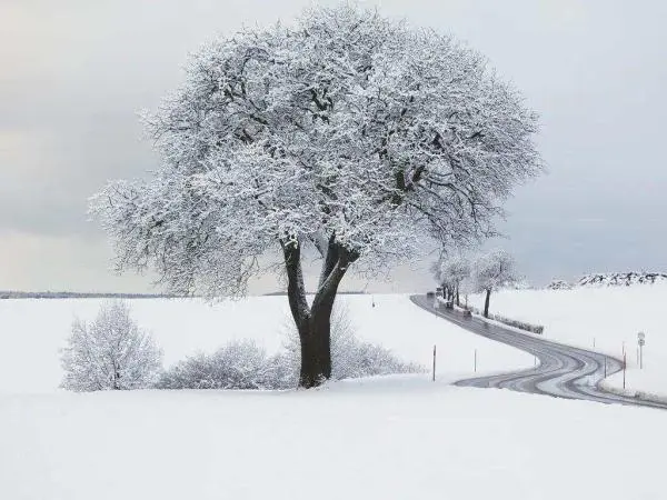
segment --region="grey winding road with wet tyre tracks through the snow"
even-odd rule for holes
[[[610,376],[621,370],[623,363],[616,358],[519,333],[488,323],[476,317],[464,318],[458,311],[435,309],[432,299],[428,300],[426,296],[411,296],[410,300],[420,308],[472,333],[521,349],[539,359],[539,364],[535,368],[459,380],[456,382],[457,386],[510,389],[557,398],[584,399],[603,403],[633,404],[667,410],[667,403],[617,396],[599,388],[605,373]]]

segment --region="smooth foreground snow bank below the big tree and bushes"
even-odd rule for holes
[[[655,410],[414,378],[6,396],[0,498],[659,499],[664,422]]]

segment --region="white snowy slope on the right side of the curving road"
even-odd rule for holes
[[[470,303],[484,304],[482,296]],[[667,283],[629,287],[577,287],[571,290],[501,290],[490,311],[544,324],[544,337],[621,359],[626,351],[626,389],[667,397]],[[637,333],[645,332],[644,369],[637,362]],[[610,377],[623,388],[623,373]]]

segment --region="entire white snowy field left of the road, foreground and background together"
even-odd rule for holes
[[[0,301],[0,499],[665,498],[667,413],[449,386],[472,376],[475,349],[487,373],[532,358],[405,296],[344,300],[359,337],[406,360],[428,364],[437,343],[438,382],[68,393],[58,348],[100,301]],[[131,306],[167,364],[232,338],[279,349],[288,320],[285,297]]]

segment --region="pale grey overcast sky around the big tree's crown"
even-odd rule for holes
[[[87,198],[156,164],[137,111],[179,84],[188,52],[309,3],[0,0],[0,289],[149,290],[109,271]],[[499,242],[529,280],[667,269],[667,2],[362,3],[467,41],[541,114],[549,174],[516,191]],[[422,289],[425,268],[348,288]]]

